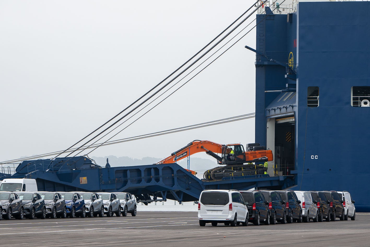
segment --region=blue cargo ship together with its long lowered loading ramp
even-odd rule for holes
[[[23,161],[14,174],[2,169],[0,180],[35,178],[44,191],[125,191],[146,204],[198,200],[204,189],[349,191],[356,211],[369,212],[370,3],[287,1],[261,2],[256,49],[246,44],[256,53],[255,141],[274,155],[268,174],[209,181],[175,163],[103,167],[65,157]]]

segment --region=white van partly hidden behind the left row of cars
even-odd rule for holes
[[[6,178],[0,185],[0,191],[37,191],[35,179],[30,178]]]

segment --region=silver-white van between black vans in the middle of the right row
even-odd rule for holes
[[[313,219],[313,222],[319,221],[319,211],[317,210],[317,201],[312,197],[309,191],[294,191],[301,201],[300,205],[302,207],[302,218],[303,222],[309,222]]]

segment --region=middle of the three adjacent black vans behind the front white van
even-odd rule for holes
[[[276,191],[261,190],[266,201],[269,202],[270,224],[275,225],[276,221],[286,224],[285,201]]]

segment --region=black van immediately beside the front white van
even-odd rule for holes
[[[239,191],[246,203],[248,203],[249,221],[254,225],[259,225],[264,222],[265,225],[270,224],[269,202],[260,191]]]

